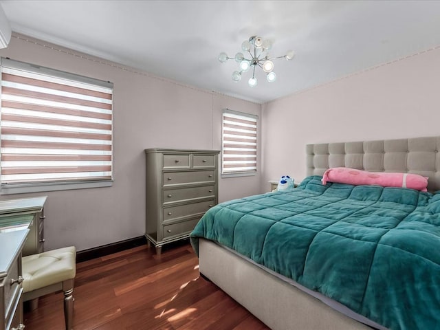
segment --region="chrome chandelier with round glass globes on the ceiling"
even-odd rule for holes
[[[244,52],[248,52],[250,58],[245,58],[243,53],[238,52],[235,57],[228,57],[228,54],[221,52],[219,54],[219,61],[225,63],[228,60],[235,60],[239,63],[239,71],[234,71],[232,73],[232,80],[239,82],[241,80],[241,74],[243,72],[248,72],[252,69],[252,77],[248,80],[250,87],[255,87],[258,83],[255,78],[255,68],[261,67],[266,73],[266,79],[268,82],[272,83],[276,80],[276,74],[274,70],[274,62],[276,58],[285,58],[287,61],[294,58],[295,53],[293,50],[289,50],[287,54],[278,57],[271,57],[269,51],[272,49],[272,41],[269,39],[261,38],[261,36],[251,36],[249,40],[243,41],[241,44],[241,49]]]

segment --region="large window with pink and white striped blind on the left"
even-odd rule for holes
[[[1,193],[110,186],[112,96],[112,83],[1,58]]]

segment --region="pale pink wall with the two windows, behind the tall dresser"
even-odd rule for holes
[[[144,234],[145,148],[221,149],[221,109],[261,115],[261,105],[134,72],[92,56],[12,37],[0,56],[114,84],[114,177],[109,188],[47,195],[45,248],[85,250]],[[45,47],[47,44],[49,47]],[[219,179],[219,200],[254,195],[260,177]],[[30,196],[32,196],[30,195]],[[8,195],[1,198],[18,198]]]

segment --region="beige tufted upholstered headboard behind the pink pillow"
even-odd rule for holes
[[[327,168],[415,173],[428,177],[428,190],[440,190],[440,137],[307,144],[307,175]]]

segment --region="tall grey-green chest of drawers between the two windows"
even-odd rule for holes
[[[201,216],[218,203],[220,151],[150,148],[146,153],[148,245],[188,238]]]

